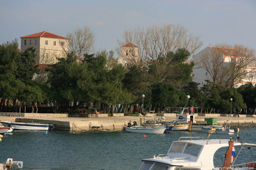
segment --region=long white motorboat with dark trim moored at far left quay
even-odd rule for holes
[[[12,130],[49,130],[49,124],[43,123],[22,123],[22,122],[5,122],[0,121],[4,127],[10,127]]]

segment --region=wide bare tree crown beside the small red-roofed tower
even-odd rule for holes
[[[166,57],[169,51],[178,48],[187,49],[193,56],[202,46],[199,37],[188,35],[188,30],[180,25],[164,24],[151,25],[146,29],[137,27],[124,31],[123,40],[117,40],[119,47],[117,53],[121,56],[120,47],[132,43],[138,47],[138,62],[146,62],[150,59],[157,60],[161,53]]]

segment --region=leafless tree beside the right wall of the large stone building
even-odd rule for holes
[[[66,43],[61,45],[65,48],[68,47],[69,52],[74,52],[78,57],[79,62],[83,58],[84,54],[89,54],[94,50],[94,33],[91,31],[90,27],[78,27],[73,32],[67,33],[67,38],[68,44]]]

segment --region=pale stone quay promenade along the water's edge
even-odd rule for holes
[[[209,115],[209,114],[208,114]],[[213,114],[212,114],[213,115]],[[103,130],[116,131],[122,130],[123,126],[127,126],[128,122],[133,124],[133,121],[140,123],[140,118],[144,122],[144,117],[138,116],[121,116],[121,117],[98,117],[98,118],[24,118],[24,117],[9,117],[0,116],[2,121],[11,122],[34,122],[34,123],[53,123],[56,125],[55,130],[65,131],[89,131]],[[159,118],[159,117],[158,117]],[[165,119],[174,120],[176,117],[166,117]],[[218,124],[225,124],[228,120],[230,125],[249,125],[256,124],[255,117],[224,117],[224,116],[195,116],[196,121],[203,121],[204,118],[217,118]],[[146,120],[154,119],[154,117],[145,117]],[[195,122],[195,121],[194,121]]]

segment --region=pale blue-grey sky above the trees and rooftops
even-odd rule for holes
[[[1,0],[0,44],[41,31],[66,36],[88,26],[95,51],[115,50],[127,29],[181,25],[209,45],[256,49],[256,0]],[[114,56],[117,56],[115,52]]]

